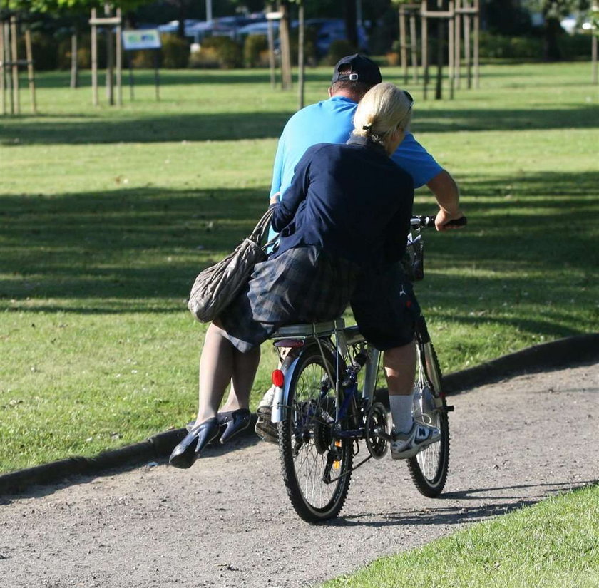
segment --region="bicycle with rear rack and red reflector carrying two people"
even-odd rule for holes
[[[454,224],[465,224],[466,219]],[[434,217],[411,218],[408,239],[412,279],[424,277],[421,231]],[[354,470],[386,455],[392,440],[384,404],[375,398],[379,359],[343,319],[319,324],[282,326],[271,336],[280,351],[272,372],[282,474],[297,515],[307,522],[336,517],[342,509]],[[441,369],[424,316],[416,324],[418,364],[414,382],[414,420],[441,431],[436,443],[408,460],[416,488],[427,497],[443,491],[449,468],[448,406]],[[361,395],[358,392],[362,387]],[[368,455],[357,465],[360,441]]]

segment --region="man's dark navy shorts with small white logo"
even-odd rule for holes
[[[420,306],[401,264],[364,270],[351,304],[360,333],[377,349],[401,347],[414,339]]]

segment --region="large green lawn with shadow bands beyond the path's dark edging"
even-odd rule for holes
[[[414,133],[458,180],[470,220],[426,235],[417,286],[448,372],[599,330],[590,66],[481,73],[481,89],[453,101],[406,86]],[[383,74],[400,81],[397,68]],[[135,75],[135,101],[126,89],[117,109],[93,108],[68,73],[43,74],[41,115],[0,119],[0,471],[187,422],[205,327],[185,297],[267,205],[295,93],[265,71],[165,71],[156,102],[151,72]],[[329,75],[307,72],[307,103]],[[426,188],[416,203],[435,209]],[[263,358],[254,406],[275,363],[268,345]]]

